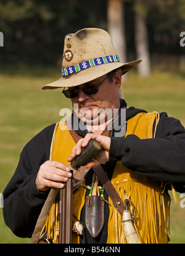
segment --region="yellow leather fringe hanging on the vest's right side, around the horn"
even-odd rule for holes
[[[143,244],[167,243],[168,239],[170,197],[166,193],[162,193],[162,189],[154,184],[153,182],[128,181],[116,186],[121,199],[123,201],[129,199],[136,208],[134,227]],[[133,206],[130,206],[130,211],[134,215]],[[107,243],[126,244],[121,215],[113,207],[110,208],[109,220],[113,225],[113,230],[109,231],[110,236]],[[111,224],[110,228],[112,229]]]

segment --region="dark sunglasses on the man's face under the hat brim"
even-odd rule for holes
[[[108,74],[107,77],[105,77],[105,79],[100,82],[99,84],[87,84],[86,86],[84,86],[81,90],[84,92],[84,94],[87,95],[92,95],[92,94],[96,94],[98,92],[98,87],[110,76],[111,73]],[[65,95],[65,97],[67,97],[68,99],[72,99],[72,98],[76,98],[79,94],[79,86],[75,86],[74,88],[70,88],[65,90],[62,90],[62,93]]]

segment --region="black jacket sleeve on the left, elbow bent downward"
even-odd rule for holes
[[[19,237],[31,237],[47,192],[38,191],[35,178],[49,159],[54,125],[48,126],[23,148],[15,173],[3,192],[4,221]]]

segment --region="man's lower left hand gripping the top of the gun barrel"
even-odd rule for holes
[[[57,161],[46,161],[39,168],[35,179],[38,190],[46,191],[50,187],[63,188],[68,178],[72,177],[70,167]]]

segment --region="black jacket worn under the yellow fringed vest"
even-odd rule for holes
[[[126,120],[143,112],[134,107],[126,110]],[[26,144],[20,154],[15,174],[5,188],[4,220],[15,235],[31,237],[41,208],[49,191],[40,192],[35,187],[39,167],[49,159],[52,134],[55,124],[48,126]],[[76,131],[84,136],[85,131]],[[135,135],[126,138],[111,136],[107,174],[111,179],[116,161],[139,174],[153,177],[163,182],[173,182],[178,192],[185,192],[185,130],[179,120],[160,113],[155,139],[139,139]],[[86,177],[86,185],[91,184],[92,172]],[[167,187],[170,189],[170,187]],[[106,197],[105,193],[105,197]],[[107,205],[107,204],[106,204]],[[109,207],[105,209],[105,223],[109,218]],[[84,219],[84,210],[81,213]],[[104,243],[107,240],[107,226],[102,234],[93,239],[86,232],[86,242]]]

